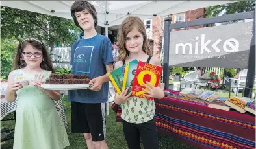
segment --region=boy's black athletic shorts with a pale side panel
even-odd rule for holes
[[[71,102],[71,132],[91,133],[94,142],[105,140],[105,103]]]

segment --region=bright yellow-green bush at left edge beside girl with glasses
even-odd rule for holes
[[[1,38],[1,78],[8,78],[8,74],[12,71],[12,61],[17,45],[14,38],[10,40]]]

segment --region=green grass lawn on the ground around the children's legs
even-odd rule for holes
[[[70,140],[70,146],[66,149],[84,149],[86,148],[86,141],[82,134],[71,133],[70,122],[71,122],[71,102],[68,102],[66,97],[63,100],[63,105],[66,110],[66,117],[68,119],[69,127],[67,129],[68,137]],[[1,128],[7,126],[14,127],[14,122],[1,122]],[[162,149],[186,149],[195,148],[194,146],[182,143],[179,140],[175,140],[168,135],[162,135],[159,133],[159,148]],[[112,109],[109,108],[109,116],[107,116],[107,144],[110,149],[125,149],[127,144],[123,135],[122,123],[116,122],[116,115]],[[11,149],[13,140],[9,140],[1,143],[1,148]]]

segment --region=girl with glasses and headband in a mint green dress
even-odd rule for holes
[[[5,95],[8,102],[17,101],[13,148],[62,149],[69,146],[64,123],[53,102],[60,100],[60,91],[40,87],[54,72],[44,43],[36,39],[22,41],[14,61]]]

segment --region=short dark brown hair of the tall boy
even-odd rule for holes
[[[75,12],[81,12],[83,10],[88,10],[88,12],[92,15],[92,18],[94,19],[94,28],[97,27],[97,12],[91,3],[88,1],[75,1],[73,5],[70,8],[71,16],[73,17],[73,20],[75,22],[75,25],[79,27],[81,30],[83,30],[77,21],[77,17],[75,17]]]

